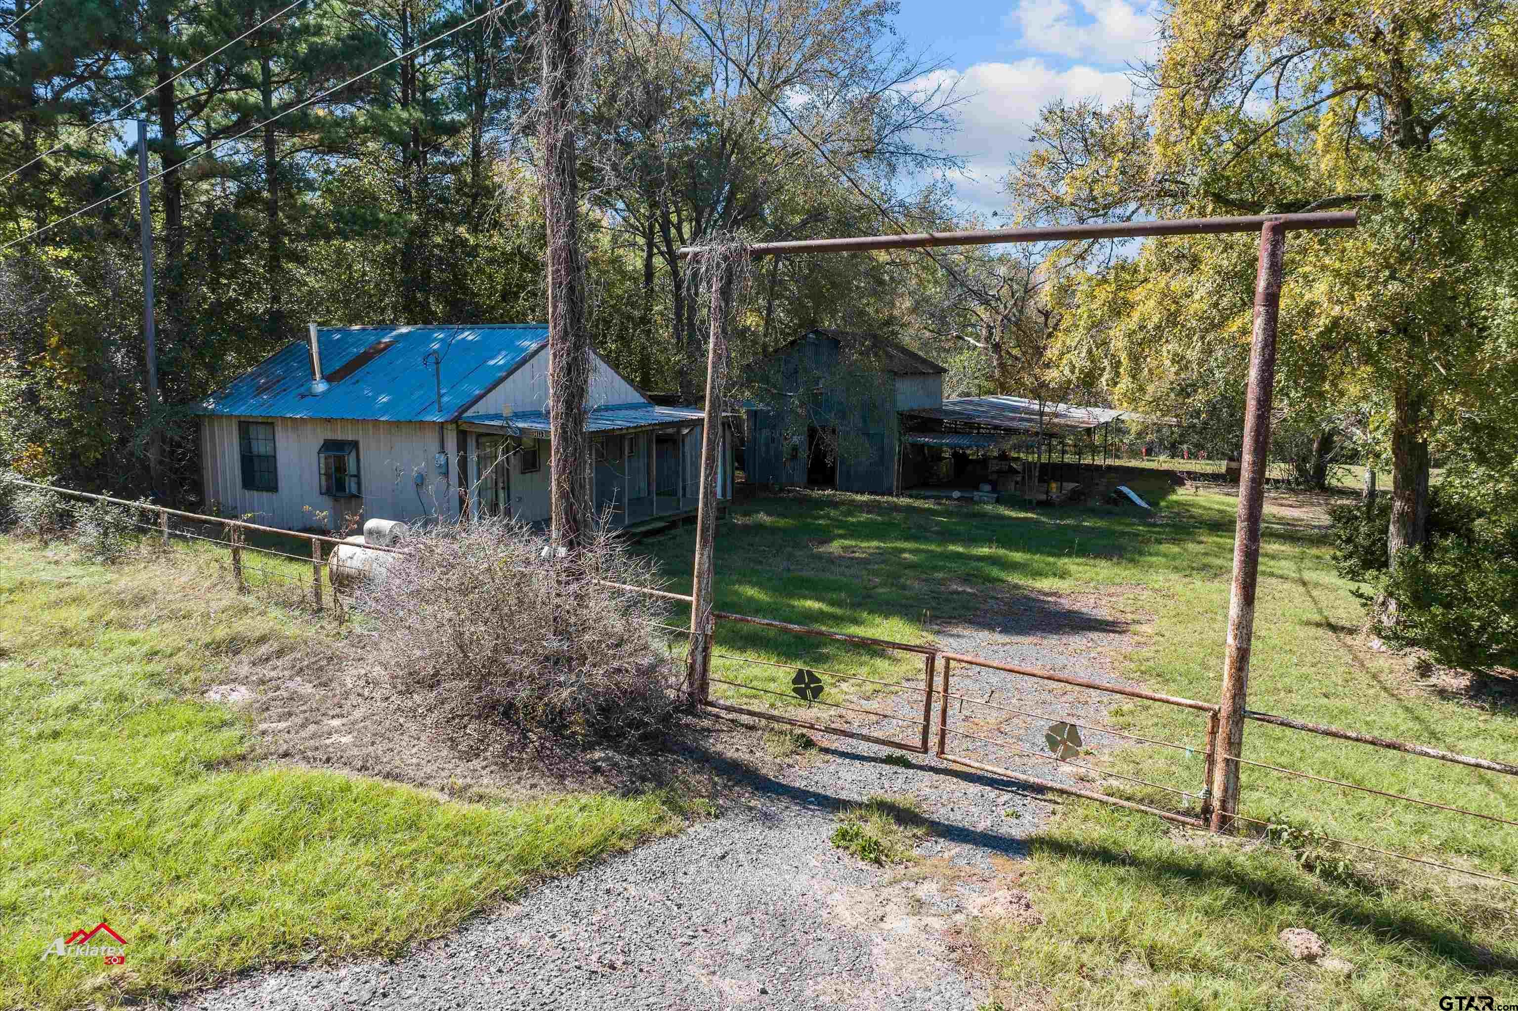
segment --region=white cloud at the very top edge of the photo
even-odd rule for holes
[[[1019,33],[1017,49],[1101,67],[1151,59],[1160,30],[1152,5],[1128,0],[1017,0],[1002,24]]]

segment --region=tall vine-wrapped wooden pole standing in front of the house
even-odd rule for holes
[[[572,548],[591,521],[584,434],[591,342],[584,326],[584,254],[575,176],[574,82],[578,39],[572,0],[542,0],[543,58],[539,140],[548,222],[548,425],[553,543]]]

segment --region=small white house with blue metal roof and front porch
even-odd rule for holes
[[[659,407],[592,352],[598,513],[694,512],[703,413]],[[197,408],[205,501],[288,530],[349,518],[550,516],[548,328],[316,326]],[[718,454],[732,496],[732,439]]]

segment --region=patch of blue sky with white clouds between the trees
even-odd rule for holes
[[[1028,149],[1029,124],[1053,99],[1128,97],[1129,64],[1155,52],[1152,0],[900,0],[897,30],[947,61],[940,73],[970,96],[950,150],[968,162],[961,202],[1002,206],[1000,178]]]

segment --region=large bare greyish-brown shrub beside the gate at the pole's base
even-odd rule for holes
[[[650,586],[653,563],[612,536],[572,557],[509,519],[417,531],[355,607],[387,680],[434,726],[627,739],[679,704],[656,628],[663,606],[601,580]]]

